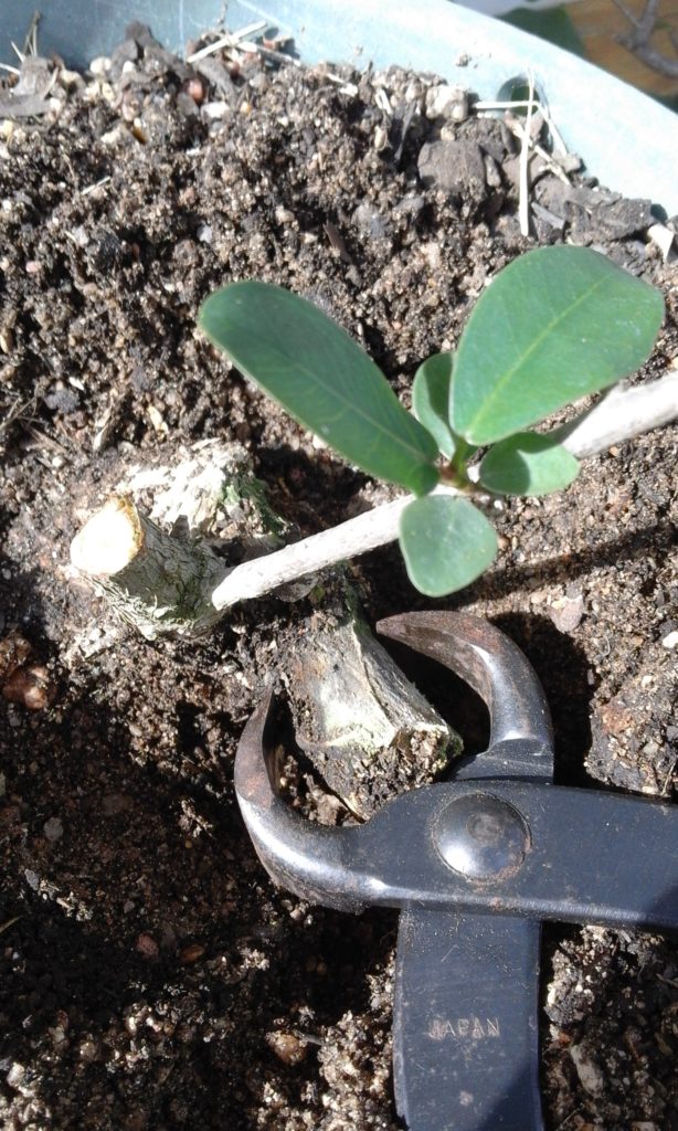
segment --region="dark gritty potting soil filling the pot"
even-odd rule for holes
[[[197,644],[107,641],[69,543],[130,461],[214,435],[247,444],[304,533],[364,507],[363,476],[228,372],[195,330],[199,303],[234,278],[285,284],[359,337],[407,403],[419,361],[454,344],[488,278],[534,243],[515,217],[513,143],[495,120],[428,120],[431,79],[341,71],[351,89],[255,58],[199,76],[137,41],[105,79],[61,75],[60,107],[0,143],[2,636],[18,631],[45,668],[43,709],[2,700],[0,715],[0,1121],[398,1128],[395,915],[276,891],[234,800],[238,736],[277,641],[311,629],[310,602],[240,607]],[[441,127],[463,143],[464,183],[444,167],[432,182],[431,150],[419,175]],[[591,188],[542,176],[538,236],[603,247],[663,287],[649,379],[677,353],[676,269],[646,242],[644,206],[619,225]],[[560,783],[671,793],[677,435],[512,502],[495,567],[437,603],[524,649]],[[429,606],[395,549],[353,572],[371,622]],[[427,687],[454,715],[445,681]],[[675,944],[550,926],[542,999],[550,1131],[678,1128]]]

